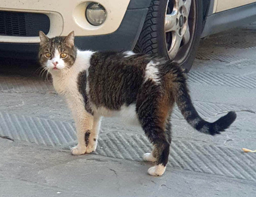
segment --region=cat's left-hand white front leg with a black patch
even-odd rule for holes
[[[85,154],[87,150],[86,146],[89,144],[88,139],[92,131],[93,115],[87,113],[85,110],[77,109],[76,111],[73,111],[73,116],[76,123],[76,137],[78,144],[71,148],[71,153],[74,155]]]

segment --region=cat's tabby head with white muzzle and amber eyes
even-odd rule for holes
[[[76,47],[74,45],[74,31],[67,37],[48,38],[44,32],[39,32],[40,49],[39,62],[51,73],[67,70],[76,60]]]

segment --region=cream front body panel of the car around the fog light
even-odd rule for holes
[[[103,35],[110,34],[120,26],[130,0],[109,1],[97,0],[107,11],[107,18],[100,26],[93,26],[85,19],[85,9],[90,1],[33,1],[30,0],[12,0],[0,1],[0,10],[15,12],[37,12],[44,13],[50,18],[49,37],[66,36],[71,31],[76,35]],[[67,25],[68,24],[68,25]],[[0,36],[0,42],[17,42],[17,43],[38,43],[39,36],[22,37],[22,36]]]

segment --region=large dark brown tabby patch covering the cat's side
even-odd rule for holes
[[[125,56],[116,52],[96,52],[92,55],[87,83],[91,101],[96,106],[118,110],[136,100],[147,60],[141,58],[134,61]]]

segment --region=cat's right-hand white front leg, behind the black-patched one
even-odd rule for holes
[[[92,153],[96,150],[97,143],[98,143],[98,134],[100,130],[100,121],[101,117],[99,115],[93,116],[93,126],[92,131],[89,135],[88,145],[86,147],[86,153]]]

